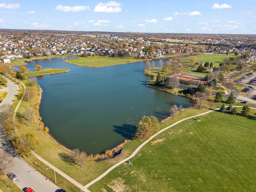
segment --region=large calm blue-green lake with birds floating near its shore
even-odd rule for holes
[[[72,58],[34,60],[26,65],[65,68],[70,72],[37,76],[43,90],[40,116],[50,134],[64,146],[87,154],[102,153],[131,138],[143,115],[169,116],[173,104],[191,100],[148,88],[146,62],[88,68],[64,62]],[[156,66],[158,61],[155,60]],[[19,67],[17,67],[19,68]]]

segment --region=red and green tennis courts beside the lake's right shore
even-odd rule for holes
[[[177,78],[178,80],[182,80],[185,82],[189,82],[190,84],[198,85],[198,84],[206,84],[204,80],[205,75],[203,74],[196,74],[196,73],[183,73],[178,76],[174,76],[172,78]]]

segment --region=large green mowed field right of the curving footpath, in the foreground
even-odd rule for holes
[[[120,165],[88,189],[92,192],[256,191],[256,121],[221,112],[201,116],[200,122],[196,119],[186,120],[158,135],[130,164]]]

